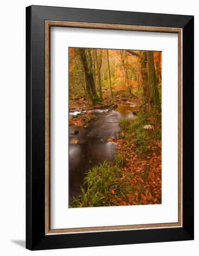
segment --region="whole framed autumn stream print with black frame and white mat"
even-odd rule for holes
[[[26,12],[27,249],[192,240],[193,16]]]

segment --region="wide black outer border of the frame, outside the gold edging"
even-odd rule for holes
[[[45,235],[45,20],[183,29],[183,225],[180,228]],[[67,7],[26,8],[26,248],[194,239],[194,17]]]

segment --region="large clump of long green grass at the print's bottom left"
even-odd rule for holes
[[[130,185],[133,176],[123,175],[116,164],[104,162],[88,170],[84,179],[87,189],[74,199],[70,207],[96,207],[119,205],[118,199],[126,200],[126,193],[134,193]]]

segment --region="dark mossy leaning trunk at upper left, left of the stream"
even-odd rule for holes
[[[100,100],[94,86],[93,74],[91,73],[88,62],[86,60],[86,51],[84,48],[79,48],[78,50],[80,54],[81,64],[85,73],[86,93],[89,97],[89,100],[92,102],[92,105],[95,105],[99,103]]]

